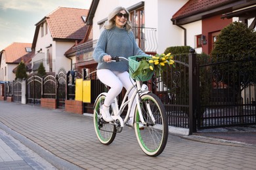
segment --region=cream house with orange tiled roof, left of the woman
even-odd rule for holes
[[[64,54],[75,42],[80,42],[87,33],[85,25],[88,10],[58,7],[35,24],[32,49],[32,72],[43,63],[47,72],[57,74],[70,71],[75,61]]]

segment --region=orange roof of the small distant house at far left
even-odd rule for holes
[[[13,42],[11,45],[4,49],[5,62],[12,63],[16,59],[28,54],[26,47],[31,48],[32,43]]]

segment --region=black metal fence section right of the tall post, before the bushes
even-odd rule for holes
[[[218,56],[200,65],[198,129],[256,124],[256,60]]]

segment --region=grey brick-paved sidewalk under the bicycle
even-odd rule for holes
[[[203,135],[169,134],[163,153],[152,158],[139,148],[134,129],[115,141],[98,142],[93,118],[63,110],[0,101],[0,129],[57,169],[255,169],[256,144]]]

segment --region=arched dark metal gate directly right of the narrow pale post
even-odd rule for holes
[[[27,103],[30,104],[41,104],[42,95],[42,78],[39,76],[31,76],[27,80]]]

